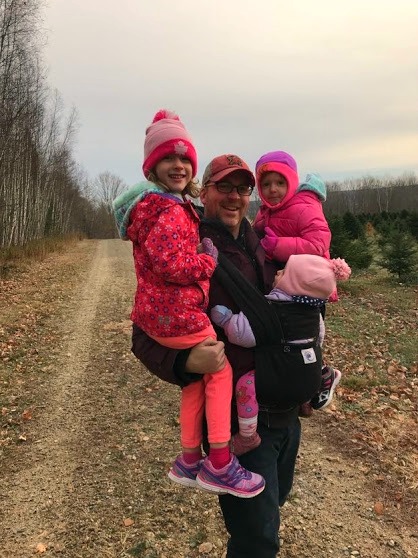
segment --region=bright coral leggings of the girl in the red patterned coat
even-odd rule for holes
[[[216,339],[212,326],[191,335],[157,337],[155,341],[171,349],[190,349],[208,337]],[[197,448],[202,443],[203,413],[208,424],[210,444],[228,442],[231,437],[232,368],[228,361],[219,372],[203,374],[202,380],[192,382],[181,390],[181,445]]]

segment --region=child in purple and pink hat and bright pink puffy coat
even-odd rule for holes
[[[317,174],[308,174],[299,186],[295,159],[285,151],[271,151],[256,164],[256,182],[261,207],[254,220],[254,230],[261,238],[266,255],[282,268],[291,255],[311,254],[330,258],[331,231],[322,203],[326,186]],[[329,297],[338,300],[337,290]],[[325,315],[325,306],[321,312]],[[302,406],[302,415],[322,409],[332,397],[341,372],[331,366],[322,369],[322,390]]]

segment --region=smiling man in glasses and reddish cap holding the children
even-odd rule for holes
[[[201,201],[204,218],[201,238],[210,238],[246,278],[266,294],[271,290],[274,268],[264,259],[264,251],[245,215],[255,179],[248,165],[236,155],[220,155],[207,166],[202,179]],[[229,292],[217,279],[211,279],[209,306],[222,304],[238,312]],[[222,332],[220,332],[220,337]],[[200,374],[216,371],[225,354],[234,371],[234,383],[254,369],[252,349],[208,339],[190,350],[166,349],[149,339],[134,325],[134,354],[161,379],[180,386],[198,379]],[[216,373],[216,372],[214,372]],[[232,426],[237,431],[236,409],[232,408]],[[279,505],[292,487],[300,440],[298,407],[259,412],[258,432],[261,445],[242,455],[240,463],[263,475],[266,488],[255,498],[219,496],[219,503],[230,535],[227,558],[274,558],[279,550]]]

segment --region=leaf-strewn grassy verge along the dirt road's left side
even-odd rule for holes
[[[63,317],[94,248],[94,241],[59,239],[2,260],[0,457],[25,441],[27,424],[42,408],[37,392],[54,371]]]

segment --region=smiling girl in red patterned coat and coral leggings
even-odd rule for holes
[[[159,111],[146,130],[147,182],[114,201],[120,235],[133,243],[137,277],[132,321],[161,345],[187,349],[216,334],[206,314],[209,279],[217,249],[199,243],[199,216],[186,196],[197,197],[197,156],[178,116]],[[214,374],[183,387],[180,405],[182,453],[168,476],[183,486],[252,498],[265,486],[230,451],[232,370],[228,361]],[[209,455],[202,459],[202,422],[208,424]]]

